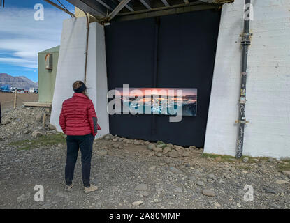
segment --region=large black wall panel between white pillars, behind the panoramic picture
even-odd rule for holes
[[[198,11],[106,26],[108,90],[197,88],[197,116],[112,115],[110,133],[132,139],[203,146],[220,12]]]

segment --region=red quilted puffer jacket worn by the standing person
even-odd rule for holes
[[[73,93],[73,97],[62,103],[59,125],[67,135],[85,135],[97,132],[96,112],[92,100],[82,93]]]

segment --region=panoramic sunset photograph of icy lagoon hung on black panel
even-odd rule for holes
[[[197,89],[116,88],[115,112],[196,116]]]

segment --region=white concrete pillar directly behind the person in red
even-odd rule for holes
[[[85,78],[85,42],[86,19],[78,17],[64,20],[55,93],[52,100],[52,114],[50,123],[61,131],[59,114],[64,100],[73,95],[72,84],[76,80],[84,81]],[[96,22],[89,27],[89,45],[87,56],[87,88],[98,116],[101,126],[96,137],[109,132],[108,113],[106,111],[107,99],[107,74],[105,35],[103,26]]]

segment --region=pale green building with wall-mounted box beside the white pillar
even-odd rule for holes
[[[38,52],[38,102],[52,103],[57,77],[59,46]]]

